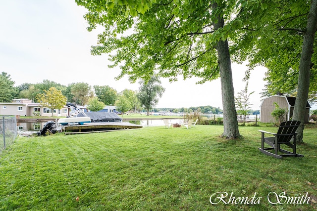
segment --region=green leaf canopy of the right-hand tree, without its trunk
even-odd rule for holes
[[[232,45],[232,49],[240,49],[241,52],[234,60],[248,60],[250,69],[258,65],[267,68],[264,79],[267,82],[265,96],[280,93],[296,95],[303,37],[311,6],[309,2],[267,1],[264,10],[252,7],[252,11],[241,14],[241,18],[248,18],[250,21],[241,29],[237,41]],[[252,1],[244,3],[248,5],[252,4]],[[315,52],[316,47],[314,46]],[[315,53],[312,63],[316,62]],[[310,84],[309,98],[315,100],[316,66],[312,66]]]

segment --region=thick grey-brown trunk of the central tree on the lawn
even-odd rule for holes
[[[213,8],[218,7],[216,4]],[[224,26],[222,16],[218,16],[217,23],[214,23],[214,29],[220,29]],[[218,41],[216,45],[218,52],[218,64],[221,81],[221,95],[223,107],[223,134],[222,137],[237,138],[240,136],[237,120],[237,112],[234,103],[234,89],[232,82],[231,60],[228,41]]]

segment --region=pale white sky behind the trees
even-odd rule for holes
[[[59,84],[88,83],[109,85],[118,92],[138,90],[139,84],[130,84],[127,77],[118,81],[120,69],[108,68],[107,55],[93,56],[92,45],[97,44],[96,30],[87,31],[83,18],[86,9],[74,0],[2,0],[0,7],[0,72],[6,72],[15,82],[42,83],[50,80]],[[235,96],[245,88],[242,79],[247,67],[232,64]],[[259,110],[264,89],[264,67],[251,72],[248,90],[253,110]],[[161,78],[165,92],[157,108],[213,106],[222,109],[220,79],[196,84],[191,78],[169,83]]]

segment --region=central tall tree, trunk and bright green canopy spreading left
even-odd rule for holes
[[[223,136],[240,136],[232,83],[228,38],[241,27],[236,0],[76,0],[89,12],[85,15],[93,30],[102,25],[100,45],[92,53],[110,55],[114,67],[121,65],[117,79],[129,75],[135,82],[148,81],[154,73],[176,81],[196,76],[198,83],[221,78],[224,116]],[[224,25],[224,22],[227,25]],[[131,35],[122,35],[131,32]],[[117,36],[120,35],[120,36]]]

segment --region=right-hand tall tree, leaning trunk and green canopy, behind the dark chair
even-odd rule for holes
[[[293,119],[302,122],[297,131],[302,142],[307,99],[317,93],[316,0],[271,0],[261,7],[256,1],[240,3],[248,11],[240,18],[249,22],[236,36],[233,49],[241,53],[235,59],[248,58],[251,69],[259,64],[267,67],[268,93],[297,93]]]

